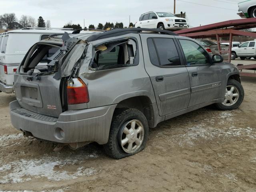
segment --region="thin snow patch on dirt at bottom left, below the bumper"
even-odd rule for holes
[[[81,163],[83,160],[97,158],[96,154],[70,154],[68,157],[42,156],[40,159],[17,160],[0,167],[0,183],[18,183],[31,180],[32,177],[46,177],[48,180],[60,181],[89,176],[96,173],[94,168],[79,167],[72,172],[56,170],[66,165]]]

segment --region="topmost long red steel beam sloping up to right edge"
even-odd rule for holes
[[[202,32],[206,30],[221,29],[235,27],[237,29],[246,29],[246,28],[255,28],[256,27],[256,18],[247,18],[247,19],[236,19],[228,20],[224,22],[213,23],[209,25],[204,25],[200,27],[193,27],[189,29],[176,31],[176,34],[186,34],[192,32]]]

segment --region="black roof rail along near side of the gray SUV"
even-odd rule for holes
[[[167,34],[172,36],[178,36],[176,33],[168,30],[161,30],[161,29],[148,29],[148,28],[124,28],[124,29],[116,29],[104,33],[98,33],[94,34],[92,36],[89,36],[86,40],[88,42],[104,39],[104,38],[110,38],[115,36],[121,36],[129,33],[142,33],[142,32],[155,32],[158,34]]]

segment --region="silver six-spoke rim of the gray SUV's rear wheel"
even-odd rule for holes
[[[120,144],[126,153],[136,152],[144,139],[144,126],[139,120],[130,120],[124,124],[120,134]]]

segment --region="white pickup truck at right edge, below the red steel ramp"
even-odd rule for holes
[[[256,41],[247,41],[240,44],[238,47],[233,47],[231,59],[234,60],[238,57],[242,60],[252,57],[256,59]]]

